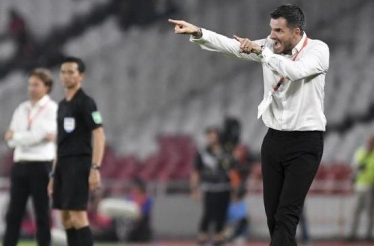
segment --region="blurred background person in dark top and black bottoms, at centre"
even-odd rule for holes
[[[226,223],[228,204],[231,196],[230,170],[232,156],[224,151],[220,131],[216,127],[205,131],[206,148],[199,151],[191,174],[193,199],[203,193],[203,213],[199,225],[198,242],[209,243],[209,229],[214,225],[214,245],[224,244],[223,230]]]

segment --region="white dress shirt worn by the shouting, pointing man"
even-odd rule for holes
[[[323,100],[329,67],[329,49],[325,43],[307,38],[304,32],[292,55],[275,54],[274,41],[267,37],[254,41],[264,46],[262,54],[257,55],[240,53],[236,39],[205,29],[201,38],[191,36],[190,40],[204,50],[261,63],[264,94],[257,115],[262,116],[267,127],[283,131],[325,131]]]

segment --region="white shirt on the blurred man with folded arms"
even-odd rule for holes
[[[50,161],[55,158],[56,145],[45,140],[57,132],[57,104],[45,95],[34,106],[30,101],[20,104],[10,123],[13,138],[8,146],[14,149],[14,162]]]

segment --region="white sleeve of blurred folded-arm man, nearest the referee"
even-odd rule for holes
[[[48,133],[56,133],[57,112],[55,107],[50,107],[46,117],[43,119],[39,127],[34,127],[31,130],[15,131],[13,139],[8,142],[8,145],[12,146],[32,146],[43,141]]]

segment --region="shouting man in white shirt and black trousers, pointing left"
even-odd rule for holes
[[[228,38],[183,20],[169,22],[175,24],[175,33],[190,34],[191,42],[204,50],[261,63],[264,99],[258,117],[269,128],[261,157],[270,245],[293,246],[305,196],[323,152],[329,49],[306,36],[299,7],[282,5],[270,15],[270,35],[255,41],[236,35]]]

